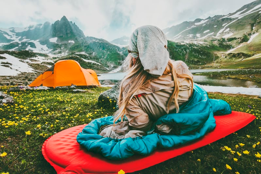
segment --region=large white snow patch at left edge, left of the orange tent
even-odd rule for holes
[[[26,72],[26,73],[34,72],[33,71],[34,69],[31,66],[29,66],[27,63],[23,62],[22,60],[18,59],[17,57],[11,56],[6,53],[1,54],[0,56],[6,58],[6,59],[1,59],[0,76],[14,76],[22,72]]]

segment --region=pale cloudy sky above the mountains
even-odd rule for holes
[[[27,27],[66,16],[86,36],[108,41],[142,25],[161,29],[235,12],[254,0],[0,0],[0,28]]]

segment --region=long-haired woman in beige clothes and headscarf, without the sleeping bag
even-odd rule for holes
[[[193,76],[183,61],[169,58],[167,39],[155,26],[141,26],[130,38],[126,64],[128,74],[122,80],[115,121],[124,115],[128,121],[109,125],[100,135],[111,138],[144,136],[157,131],[169,133],[169,125],[155,121],[168,113],[178,113],[193,91]],[[114,121],[114,123],[115,123]]]

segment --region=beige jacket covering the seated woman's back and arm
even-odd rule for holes
[[[176,73],[190,76],[188,67],[183,61],[174,61],[173,68]],[[188,78],[178,78],[179,95],[178,105],[186,102],[191,96],[192,81]],[[127,90],[127,89],[126,89]],[[167,114],[168,101],[174,92],[174,81],[171,73],[151,79],[145,86],[140,88],[126,107],[126,117],[129,125],[141,130],[150,129],[151,123],[161,116]],[[124,90],[123,97],[126,94]],[[169,113],[176,111],[175,101],[173,100]]]

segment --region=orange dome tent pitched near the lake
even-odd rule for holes
[[[29,86],[96,86],[101,85],[94,70],[84,69],[75,60],[59,60],[39,75]]]

